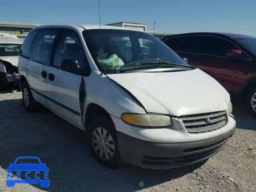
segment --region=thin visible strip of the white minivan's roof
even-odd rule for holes
[[[63,25],[42,25],[39,26],[38,28],[50,28],[50,27],[61,27],[61,28],[76,28],[76,29],[81,29],[84,28],[86,30],[89,29],[118,29],[118,30],[132,30],[132,31],[140,31],[136,30],[134,28],[128,28],[128,27],[117,27],[117,26],[111,26],[111,25],[85,25],[85,24],[63,24]],[[142,32],[142,31],[140,31]]]

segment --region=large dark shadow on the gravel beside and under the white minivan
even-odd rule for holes
[[[0,108],[0,165],[6,170],[19,156],[39,157],[50,170],[50,186],[31,185],[42,190],[130,192],[179,178],[197,168],[156,171],[125,166],[111,170],[90,155],[82,130],[48,110],[29,113],[21,100],[0,101]],[[141,181],[143,187],[138,186]]]

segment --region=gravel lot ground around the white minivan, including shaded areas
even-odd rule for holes
[[[255,192],[256,118],[240,102],[233,104],[236,133],[199,168],[155,171],[127,166],[110,170],[92,158],[81,130],[48,110],[27,112],[21,92],[0,93],[0,192]],[[6,187],[6,168],[18,156],[38,156],[46,163],[50,186]]]

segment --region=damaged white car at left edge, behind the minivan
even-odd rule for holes
[[[0,91],[6,90],[16,79],[21,45],[22,41],[17,36],[0,33]]]

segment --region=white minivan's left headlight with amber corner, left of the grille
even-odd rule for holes
[[[131,125],[143,127],[166,127],[172,124],[171,118],[160,114],[122,114],[122,120]]]

